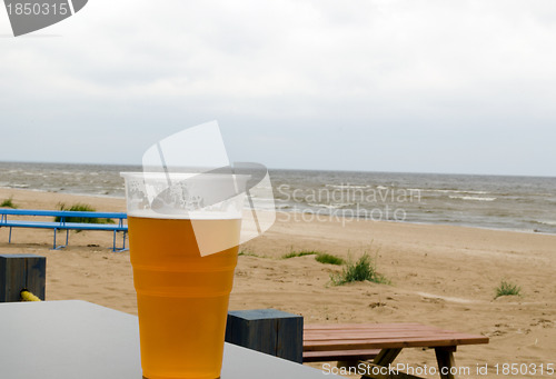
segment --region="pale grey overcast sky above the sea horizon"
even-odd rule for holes
[[[89,0],[14,38],[0,160],[141,162],[218,120],[270,168],[556,176],[556,2]]]

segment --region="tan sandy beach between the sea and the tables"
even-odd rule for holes
[[[0,200],[9,197],[22,209],[83,202],[125,211],[122,199],[0,189]],[[51,230],[14,229],[9,245],[8,230],[0,229],[1,253],[47,257],[47,300],[81,299],[137,313],[129,252],[111,251],[110,232],[71,232],[62,250],[51,243]],[[330,275],[340,267],[311,256],[280,259],[301,250],[351,259],[368,252],[391,283],[336,287]],[[489,373],[460,378],[503,377],[494,373],[497,363],[556,366],[556,236],[279,213],[240,251],[230,309],[276,308],[302,315],[306,323],[423,322],[488,336],[490,343],[459,347],[455,358],[471,372],[488,365]],[[495,299],[503,279],[520,286],[522,296]],[[398,360],[436,366],[433,350],[406,349]]]

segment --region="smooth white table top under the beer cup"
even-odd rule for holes
[[[0,303],[0,378],[141,379],[136,316],[80,300]],[[226,343],[221,379],[340,378]]]

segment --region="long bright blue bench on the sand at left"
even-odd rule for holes
[[[54,217],[59,221],[39,221],[39,220],[9,220],[8,216],[32,216],[32,217]],[[98,219],[115,219],[116,223],[87,223],[87,222],[67,222],[69,218],[98,218]],[[61,249],[68,246],[70,230],[108,230],[113,232],[112,251],[116,251],[116,237],[118,232],[123,233],[123,242],[119,251],[126,250],[126,237],[128,226],[123,220],[128,218],[127,213],[122,212],[86,212],[86,211],[69,211],[69,210],[34,210],[34,209],[0,209],[0,228],[10,228],[10,237],[8,242],[11,243],[12,228],[38,228],[53,229],[54,240],[52,249]],[[66,245],[57,246],[56,237],[58,230],[66,230]]]

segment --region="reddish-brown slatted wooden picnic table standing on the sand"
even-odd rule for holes
[[[420,323],[306,325],[304,327],[304,362],[338,361],[338,367],[357,367],[363,361],[361,378],[419,378],[414,375],[384,375],[405,348],[435,349],[443,379],[455,378],[454,352],[459,345],[488,343],[488,338]],[[374,369],[375,368],[375,369]],[[356,372],[359,375],[359,372]]]

